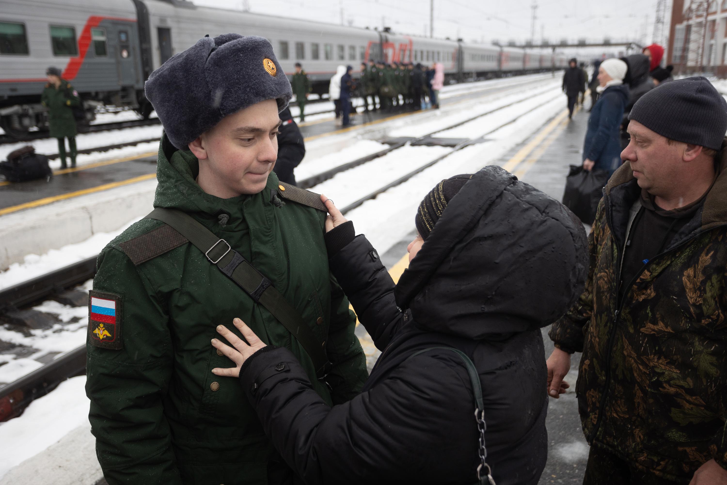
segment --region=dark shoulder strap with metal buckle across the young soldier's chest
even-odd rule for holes
[[[207,260],[240,286],[252,300],[268,309],[270,313],[293,334],[310,356],[316,367],[318,379],[323,379],[332,364],[326,356],[325,342],[321,344],[313,331],[305,324],[300,313],[278,292],[268,278],[256,270],[240,253],[232,249],[193,217],[177,209],[157,208],[145,219],[156,219],[172,226],[190,243],[204,253]]]

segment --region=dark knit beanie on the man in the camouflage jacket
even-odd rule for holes
[[[727,101],[707,78],[678,79],[643,95],[629,119],[671,140],[719,150],[727,132]]]

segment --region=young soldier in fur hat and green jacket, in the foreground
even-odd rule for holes
[[[366,362],[330,276],[316,194],[279,183],[292,91],[270,42],[205,37],[145,86],[164,126],[154,211],[101,252],[89,305],[87,396],[115,484],[293,483],[210,345],[235,317],[300,359],[329,403]]]

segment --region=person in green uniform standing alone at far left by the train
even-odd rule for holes
[[[48,84],[43,89],[41,104],[48,108],[50,136],[58,140],[60,168],[68,167],[65,162],[65,138],[68,138],[71,167],[76,167],[76,119],[73,117],[73,108],[81,108],[81,98],[71,83],[61,79],[59,68],[48,68],[46,76]]]

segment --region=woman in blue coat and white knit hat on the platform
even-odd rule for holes
[[[606,59],[598,66],[601,95],[588,119],[583,142],[583,168],[604,170],[608,175],[621,166],[619,126],[629,100],[629,88],[623,84],[627,65],[620,59]]]

